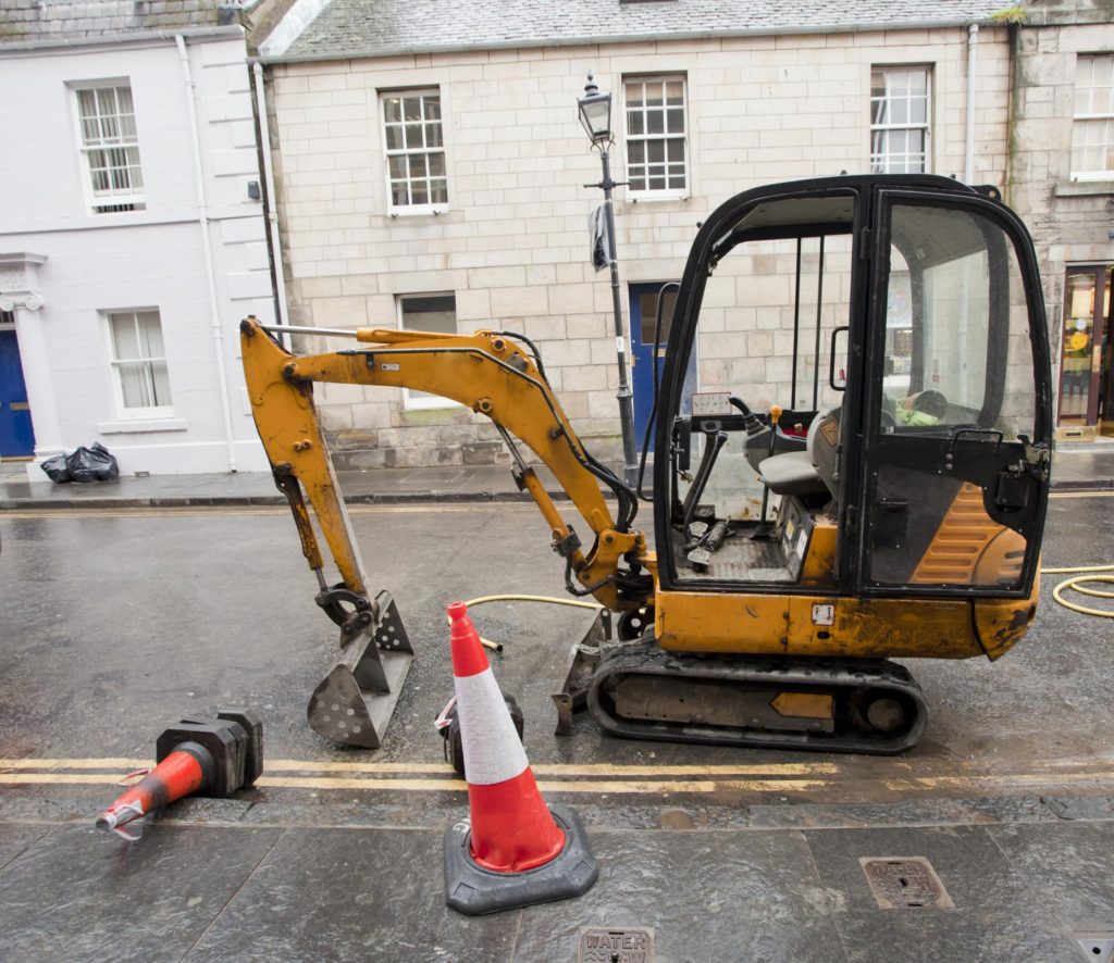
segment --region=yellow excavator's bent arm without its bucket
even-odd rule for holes
[[[361,346],[297,356],[254,317],[241,325],[255,424],[275,482],[290,500],[302,551],[317,573],[319,603],[338,623],[343,625],[349,615],[343,603],[361,608],[360,600],[368,600],[369,591],[313,404],[313,385],[317,382],[416,389],[451,399],[490,417],[515,458],[519,488],[530,493],[551,530],[554,550],[566,562],[570,590],[592,593],[614,610],[645,602],[652,583],[642,571],[647,561],[645,538],[631,529],[637,504],[634,495],[585,450],[546,380],[540,358],[525,338],[489,331],[472,335],[384,328],[335,333],[354,337]],[[582,544],[573,525],[561,518],[511,435],[556,475],[592,532],[590,546]],[[600,491],[600,482],[612,487],[618,497],[618,520]],[[340,570],[340,586],[330,588],[325,583],[324,560],[303,491]]]

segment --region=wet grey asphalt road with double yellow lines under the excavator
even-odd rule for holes
[[[1110,493],[1054,499],[1046,563],[1103,561],[1096,533],[1112,522]],[[535,530],[544,523],[528,505],[485,504],[358,508],[353,524],[369,567],[390,574],[418,654],[375,754],[336,750],[304,723],[305,679],[334,639],[292,602],[304,570],[273,550],[289,535],[281,510],[0,515],[0,817],[95,813],[168,717],[233,701],[263,715],[273,768],[255,794],[185,814],[431,825],[459,808],[462,784],[432,728],[451,691],[443,602],[558,593]],[[899,759],[628,743],[586,719],[558,739],[549,692],[585,615],[490,605],[477,620],[506,645],[495,669],[524,708],[539,780],[589,824],[656,825],[673,807],[714,825],[750,818],[746,807],[888,803],[928,818],[924,807],[957,799],[1114,795],[1108,623],[1048,598],[997,665],[918,664],[932,720]],[[125,764],[97,763],[105,758]],[[46,759],[70,761],[32,765]]]

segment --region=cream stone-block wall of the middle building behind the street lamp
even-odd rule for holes
[[[743,189],[868,170],[873,65],[931,66],[930,170],[961,176],[967,39],[966,29],[946,29],[276,65],[274,156],[292,321],[390,326],[397,295],[453,292],[461,331],[498,326],[538,340],[577,430],[598,440],[594,450],[606,448],[618,424],[610,289],[607,273],[587,264],[587,214],[602,191],[583,186],[600,168],[576,118],[588,70],[613,92],[616,125],[624,75],[684,72],[688,82],[691,196],[632,203],[617,190],[625,291],[678,278],[697,222]],[[984,28],[978,40],[975,181],[1001,186],[1007,31]],[[391,218],[378,94],[434,86],[450,209]],[[613,159],[622,180],[622,141]],[[766,358],[779,371],[783,362]],[[764,373],[774,396],[753,401],[784,403],[779,381]],[[317,400],[338,445],[365,450],[344,463],[467,463],[498,449],[470,413],[403,411],[397,391],[329,386]]]

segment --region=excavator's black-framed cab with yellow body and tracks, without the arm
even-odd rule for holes
[[[942,177],[747,191],[704,223],[665,354],[654,637],[702,654],[702,690],[615,672],[616,730],[912,745],[924,701],[886,660],[997,658],[1035,613],[1052,419],[1027,232]]]

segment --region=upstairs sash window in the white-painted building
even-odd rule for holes
[[[75,94],[94,214],[145,209],[131,87],[117,82]]]

